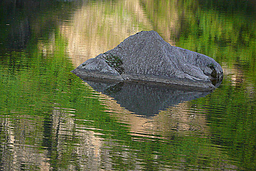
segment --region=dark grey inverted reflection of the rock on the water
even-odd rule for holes
[[[160,110],[165,110],[180,102],[204,97],[210,93],[202,89],[180,85],[81,79],[92,86],[96,91],[113,97],[121,107],[145,116],[156,115]]]

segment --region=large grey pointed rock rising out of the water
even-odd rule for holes
[[[223,78],[222,68],[214,59],[172,46],[156,31],[132,35],[72,72],[83,78],[141,80],[210,89]]]

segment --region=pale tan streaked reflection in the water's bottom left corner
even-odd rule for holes
[[[47,151],[40,148],[41,135],[43,134],[42,124],[39,120],[29,115],[17,116],[19,121],[13,122],[12,119],[0,119],[0,127],[5,130],[5,143],[1,144],[4,150],[1,155],[0,170],[20,171],[24,169],[40,171],[50,171],[51,167],[48,161]],[[36,128],[36,129],[35,129]],[[33,139],[35,138],[35,139]],[[30,141],[31,139],[38,142]],[[23,163],[27,165],[22,167]]]

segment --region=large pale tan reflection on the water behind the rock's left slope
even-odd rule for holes
[[[114,48],[130,35],[152,29],[138,0],[88,2],[60,28],[76,66]]]

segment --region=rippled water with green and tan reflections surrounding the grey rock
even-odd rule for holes
[[[214,58],[221,85],[70,72],[141,30]],[[254,171],[255,88],[255,0],[0,0],[1,171]]]

